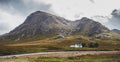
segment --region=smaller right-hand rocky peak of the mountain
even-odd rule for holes
[[[88,36],[93,36],[104,32],[110,32],[108,28],[106,28],[99,22],[95,22],[94,20],[86,17],[83,17],[81,20],[77,20],[76,23],[78,23],[75,28],[77,32],[81,32],[82,34]]]

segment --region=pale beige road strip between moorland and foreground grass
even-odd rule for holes
[[[28,53],[18,55],[0,56],[0,58],[12,58],[12,57],[33,57],[33,56],[53,56],[53,57],[70,57],[81,55],[95,55],[95,54],[120,54],[120,51],[60,51],[60,52],[39,52]]]

